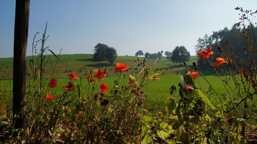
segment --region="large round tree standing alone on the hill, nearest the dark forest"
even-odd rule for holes
[[[176,46],[172,51],[171,61],[174,63],[188,62],[190,53],[187,51],[185,46]]]

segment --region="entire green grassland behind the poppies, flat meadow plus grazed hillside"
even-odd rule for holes
[[[65,71],[72,71],[75,73],[78,73],[79,70],[88,64],[94,64],[98,67],[100,67],[101,69],[107,69],[108,72],[108,76],[104,79],[104,82],[109,85],[109,87],[112,87],[114,85],[114,81],[118,79],[118,75],[120,73],[115,73],[113,69],[114,67],[116,67],[116,63],[125,63],[127,65],[130,66],[130,68],[132,68],[131,70],[128,70],[125,73],[125,81],[122,79],[119,83],[120,86],[122,85],[127,85],[128,84],[128,75],[132,73],[132,71],[135,68],[135,63],[136,65],[138,63],[140,63],[141,61],[144,60],[144,58],[142,57],[135,57],[135,56],[118,56],[115,63],[113,65],[111,65],[110,63],[108,63],[107,61],[99,61],[99,62],[94,62],[92,59],[92,54],[72,54],[72,55],[60,55],[59,59],[62,61],[57,61],[57,58],[54,57],[53,55],[49,58],[49,55],[47,55],[46,60],[48,60],[48,64],[45,66],[45,73],[44,73],[44,77],[45,78],[50,78],[51,74],[53,73],[53,78],[57,78],[58,81],[58,87],[56,88],[56,90],[62,90],[62,85],[67,85],[67,82],[69,81],[68,78],[68,73],[70,72],[65,72]],[[28,56],[27,57],[27,71],[28,74],[31,73],[31,63],[30,63],[30,59],[32,59],[32,56]],[[137,61],[137,59],[139,59],[139,61]],[[136,62],[135,62],[136,60]],[[153,66],[154,62],[156,59],[149,59],[145,61],[145,65],[148,67]],[[2,63],[5,63],[8,67],[8,73],[9,74],[4,74],[4,85],[11,85],[12,84],[12,64],[13,64],[13,59],[12,58],[1,58],[0,61]],[[36,61],[36,59],[34,58],[34,61]],[[187,62],[188,63],[188,70],[189,71],[193,71],[193,68],[191,67],[191,63],[192,62],[197,62],[197,56],[191,56],[190,57],[190,61]],[[56,66],[55,66],[56,64]],[[68,65],[68,66],[67,66]],[[54,72],[52,72],[52,67],[55,66],[55,70]],[[36,65],[35,65],[36,67]],[[167,60],[166,57],[162,58],[162,59],[158,59],[157,63],[154,66],[153,70],[159,69],[159,71],[164,72],[165,74],[162,75],[158,75],[156,77],[160,78],[160,81],[155,81],[154,85],[152,87],[152,80],[149,80],[148,83],[148,90],[147,92],[148,94],[148,98],[144,104],[144,107],[147,107],[148,109],[154,109],[154,110],[161,110],[163,109],[163,105],[165,105],[166,103],[166,99],[167,97],[169,97],[169,89],[170,87],[174,84],[175,86],[178,87],[178,83],[180,83],[180,75],[181,74],[186,74],[187,70],[185,69],[184,65],[179,66],[178,64],[172,63],[171,61]],[[83,68],[81,70],[81,72],[78,73],[79,77],[82,77],[82,85],[87,84],[87,80],[86,77],[89,75],[90,71],[97,69],[94,66],[86,66],[85,68]],[[161,69],[161,70],[160,70]],[[87,73],[87,74],[86,74]],[[93,76],[95,75],[95,72],[92,72]],[[203,73],[205,74],[205,73]],[[27,75],[27,78],[29,79],[31,76]],[[9,79],[9,80],[8,80]],[[223,87],[222,82],[218,79],[218,77],[216,75],[209,75],[206,76],[206,79],[212,84],[213,88],[215,90],[217,90],[218,94],[224,93],[226,91],[225,87]],[[48,79],[46,79],[48,81]],[[209,88],[209,84],[203,79],[201,78],[201,80],[203,81],[203,84],[206,85],[206,89]],[[76,82],[79,82],[79,80],[77,80]],[[198,79],[196,79],[196,87],[199,87],[199,82]],[[151,90],[151,91],[150,91]],[[110,91],[110,88],[109,88]],[[216,98],[211,98],[213,99],[214,103],[218,104],[218,99]]]

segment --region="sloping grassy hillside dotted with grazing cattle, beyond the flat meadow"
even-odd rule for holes
[[[32,60],[34,61],[34,65],[36,68],[36,60],[37,56],[27,56],[27,78],[29,78],[29,74],[32,72]],[[136,65],[137,63],[140,64],[144,60],[143,57],[135,57],[135,56],[118,56],[115,60],[114,64],[111,65],[107,61],[93,61],[93,54],[62,54],[59,56],[59,59],[61,61],[57,61],[57,58],[53,55],[47,55],[45,62],[48,61],[48,63],[45,65],[45,71],[44,71],[44,77],[49,78],[51,74],[53,73],[53,76],[55,78],[67,78],[67,74],[69,71],[78,73],[79,77],[87,77],[89,75],[91,70],[97,69],[94,66],[86,66],[81,71],[79,71],[83,66],[92,64],[96,65],[101,69],[107,69],[108,76],[117,76],[118,73],[115,73],[113,68],[116,67],[116,63],[125,63],[128,66],[130,66],[131,70],[128,70],[129,74],[132,72],[135,68],[135,60]],[[139,61],[137,61],[139,59]],[[146,59],[145,65],[150,68],[156,59]],[[192,62],[197,62],[197,56],[191,56],[190,61],[187,62],[189,65],[189,70],[193,70],[192,68]],[[5,67],[8,68],[9,74],[4,74],[4,79],[12,79],[12,71],[13,71],[13,58],[0,58],[0,64],[2,65],[5,63]],[[191,67],[190,67],[191,66]],[[54,68],[54,71],[52,71],[52,68]],[[179,66],[177,63],[172,63],[171,61],[167,60],[166,57],[163,57],[162,59],[158,59],[157,63],[154,66],[154,69],[161,69],[161,71],[165,72],[165,75],[173,75],[173,74],[184,74],[186,73],[186,69],[184,65]],[[111,70],[112,69],[112,70]],[[67,72],[65,72],[67,71]],[[94,72],[93,72],[94,74]]]

